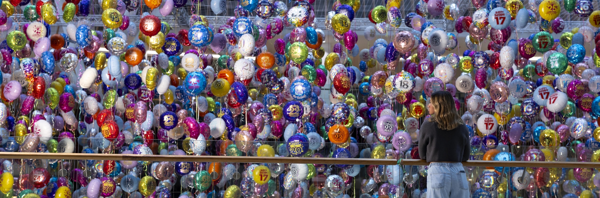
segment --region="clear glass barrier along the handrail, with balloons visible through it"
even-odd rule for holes
[[[292,137],[290,137],[292,138]],[[428,166],[415,159],[415,144],[268,142],[142,137],[2,137],[4,152],[181,155],[178,161],[113,161],[4,158],[0,198],[257,198],[425,197]],[[598,148],[474,145],[470,160],[589,162]],[[4,152],[0,152],[2,155]],[[393,159],[389,165],[197,162],[184,155]],[[319,158],[319,159],[317,159]],[[287,159],[287,158],[286,158]],[[227,160],[223,160],[227,161]],[[395,164],[394,164],[395,163]],[[586,168],[464,167],[472,197],[598,197],[597,170]],[[187,196],[187,197],[185,197]]]

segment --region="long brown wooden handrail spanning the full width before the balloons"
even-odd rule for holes
[[[136,155],[136,154],[77,154],[47,152],[0,152],[0,158],[7,159],[48,159],[48,160],[125,160],[125,161],[191,161],[223,163],[286,163],[286,164],[360,164],[396,165],[394,159],[370,158],[312,158],[312,157],[248,157],[210,155]],[[425,160],[402,159],[402,165],[427,166]],[[600,163],[565,161],[483,161],[469,160],[463,166],[497,167],[548,167],[548,168],[593,168],[600,169]]]

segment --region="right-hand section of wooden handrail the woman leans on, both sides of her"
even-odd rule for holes
[[[402,159],[402,165],[427,166],[425,160]],[[567,162],[567,161],[464,161],[463,166],[496,166],[496,167],[547,167],[547,168],[592,168],[600,169],[600,163],[596,162]]]

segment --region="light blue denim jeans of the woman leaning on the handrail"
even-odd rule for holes
[[[468,198],[469,182],[462,163],[429,164],[427,198]]]

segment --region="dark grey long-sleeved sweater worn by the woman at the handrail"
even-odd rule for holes
[[[446,131],[438,128],[436,122],[425,119],[419,129],[421,160],[427,160],[427,162],[467,161],[470,151],[469,129],[464,124]]]

